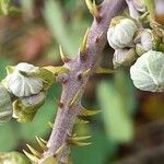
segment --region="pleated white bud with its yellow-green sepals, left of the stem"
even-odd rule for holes
[[[3,84],[16,97],[38,94],[40,91],[48,90],[55,82],[55,77],[50,71],[25,62],[8,67],[7,71],[8,75]]]

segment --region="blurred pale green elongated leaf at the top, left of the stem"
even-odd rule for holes
[[[67,31],[68,25],[65,22],[61,11],[62,10],[57,1],[45,1],[44,16],[54,38],[59,45],[65,47],[68,55],[72,55],[74,54],[73,49],[75,48],[73,48],[74,45],[70,42]]]

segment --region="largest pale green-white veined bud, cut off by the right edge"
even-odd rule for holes
[[[154,50],[143,54],[130,68],[130,75],[140,90],[164,92],[164,54]]]

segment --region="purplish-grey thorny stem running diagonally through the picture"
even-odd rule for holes
[[[125,0],[104,0],[104,2],[99,5],[101,21],[97,22],[97,20],[94,19],[90,28],[85,52],[82,55],[79,51],[75,59],[66,63],[67,67],[69,67],[70,72],[68,74],[67,82],[62,83],[62,94],[60,102],[63,104],[63,106],[58,107],[54,128],[47,143],[48,149],[44,152],[39,164],[44,159],[54,155],[56,151],[61,145],[66,144],[67,140],[70,138],[77,115],[81,110],[80,102],[85,85],[97,65],[97,56],[102,54],[107,42],[106,33],[109,26],[109,22],[114,16],[119,14],[125,9]],[[92,71],[79,80],[79,73],[87,69],[91,69]],[[79,91],[80,98],[70,106],[70,102]],[[63,164],[68,163],[70,147],[67,144],[61,153],[57,155],[58,162]]]

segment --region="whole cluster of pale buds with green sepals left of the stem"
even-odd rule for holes
[[[0,122],[12,117],[20,122],[32,121],[55,82],[54,73],[25,62],[7,67],[7,73],[0,84]]]

